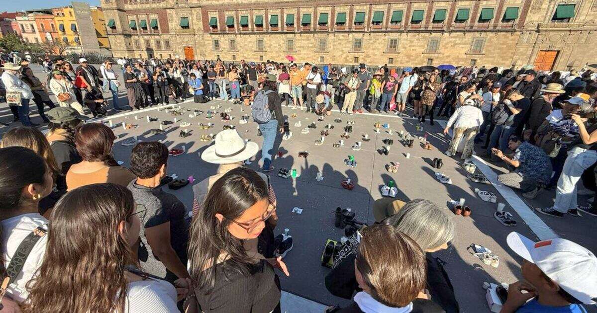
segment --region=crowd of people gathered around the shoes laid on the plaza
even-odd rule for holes
[[[539,213],[597,216],[597,202],[577,206],[577,183],[597,162],[595,75],[549,75],[467,67],[378,67],[353,70],[328,64],[221,60],[125,60],[99,69],[85,58],[47,69],[47,82],[27,60],[5,62],[5,98],[23,126],[0,145],[0,269],[2,305],[16,312],[281,312],[278,274],[292,268],[275,236],[276,191],[267,172],[285,129],[283,105],[313,114],[365,111],[410,115],[426,122],[449,117],[446,154],[469,162],[478,154],[512,172],[500,182],[533,198],[556,188],[552,207]],[[234,129],[221,131],[201,158],[219,166],[193,186],[193,202],[162,190],[168,184],[168,148],[137,143],[130,167],[116,162],[112,129],[88,121],[113,110],[122,75],[131,110],[193,98],[251,106],[263,135],[260,172],[244,166],[259,145]],[[48,86],[50,90],[48,90]],[[57,106],[50,100],[57,98]],[[29,118],[38,106],[49,131]],[[44,106],[50,110],[44,111]],[[408,107],[408,109],[407,109]],[[411,111],[412,109],[412,111]],[[590,186],[592,179],[585,185]],[[192,206],[187,214],[186,206]],[[351,305],[327,312],[458,312],[454,288],[433,257],[456,239],[454,222],[428,200],[380,199],[376,223],[357,231],[357,244],[325,278],[331,294]],[[352,240],[350,240],[352,242]],[[510,248],[525,259],[522,279],[510,284],[501,312],[584,312],[597,299],[597,258],[565,239],[534,243],[511,233]],[[145,272],[149,245],[164,277]],[[286,250],[285,252],[282,250]],[[458,275],[451,273],[451,275]],[[5,292],[5,293],[4,293]]]

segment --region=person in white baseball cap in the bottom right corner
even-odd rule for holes
[[[581,303],[597,304],[597,258],[588,249],[562,238],[536,243],[516,232],[506,241],[524,259],[524,281],[510,284],[501,313],[581,313]]]

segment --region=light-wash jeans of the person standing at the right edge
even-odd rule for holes
[[[567,213],[569,209],[576,209],[576,183],[583,175],[584,170],[590,168],[595,162],[597,162],[597,151],[595,150],[575,147],[568,151],[562,175],[558,179],[553,209],[562,213]]]

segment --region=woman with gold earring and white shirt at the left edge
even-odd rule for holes
[[[26,284],[44,260],[48,220],[39,214],[38,206],[39,201],[52,191],[52,175],[50,166],[32,150],[24,147],[0,148],[0,271],[4,273],[15,256],[22,257],[17,249],[29,234],[36,228],[44,232],[41,237],[36,236],[23,268],[8,285],[2,304],[7,302],[7,298],[17,303],[27,299]]]

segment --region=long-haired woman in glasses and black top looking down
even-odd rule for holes
[[[266,182],[253,170],[236,168],[210,188],[193,219],[189,256],[196,304],[205,313],[280,312],[281,258],[265,259],[244,246],[257,238],[275,212]],[[196,299],[196,302],[195,302]],[[195,311],[191,311],[195,312]]]

